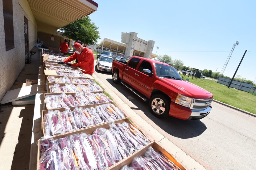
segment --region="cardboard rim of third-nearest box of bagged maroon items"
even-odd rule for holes
[[[109,103],[100,103],[100,104],[93,104],[93,105],[86,105],[86,106],[76,106],[76,107],[91,108],[91,107],[101,106],[101,105],[104,105],[104,104],[113,104],[114,106],[116,106],[113,102],[109,102]],[[70,110],[73,111],[76,107],[68,107],[68,108],[70,108]],[[118,106],[116,106],[116,107],[118,107]],[[66,108],[61,108],[61,109],[57,109],[57,110],[59,110],[60,112],[63,112],[63,111],[65,111],[65,109]],[[52,110],[52,109],[49,109],[49,110]],[[42,110],[41,129],[42,129],[43,136],[45,136],[43,117],[47,113],[48,113],[48,110]],[[124,113],[124,117],[127,118],[127,115],[125,113]],[[125,118],[122,118],[122,119],[125,119]],[[118,120],[122,120],[122,119],[118,119]],[[109,122],[105,122],[105,123],[109,123]],[[101,123],[101,124],[104,124],[104,123]],[[98,124],[98,125],[101,125],[101,124]],[[98,126],[98,125],[95,125],[95,126]],[[90,127],[93,127],[93,126],[90,126]],[[83,129],[87,129],[87,128],[90,128],[90,127],[86,127],[86,128],[83,128]],[[79,130],[82,130],[82,129],[79,129]],[[78,131],[78,130],[74,130],[74,131]],[[71,131],[71,132],[74,132],[74,131]],[[70,133],[70,132],[67,132],[67,133]],[[64,133],[64,134],[66,134],[66,133]],[[55,135],[55,136],[60,136],[60,135]]]

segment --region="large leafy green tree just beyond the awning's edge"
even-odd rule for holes
[[[100,39],[100,32],[89,16],[74,21],[60,29],[63,36],[80,40],[83,44],[93,45]]]

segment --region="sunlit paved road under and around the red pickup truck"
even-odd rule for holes
[[[106,91],[118,95],[141,118],[204,168],[256,168],[255,117],[213,102],[211,113],[200,120],[159,119],[150,113],[148,103],[121,83],[114,84],[111,73],[96,71],[94,75],[104,83]]]

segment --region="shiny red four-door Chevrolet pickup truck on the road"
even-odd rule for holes
[[[212,109],[213,94],[184,81],[175,68],[159,61],[137,56],[128,63],[114,60],[112,77],[144,101],[149,99],[151,113],[157,117],[197,120]]]

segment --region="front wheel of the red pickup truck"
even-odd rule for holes
[[[167,117],[170,110],[170,100],[161,94],[153,95],[149,100],[149,107],[154,116],[158,118]]]

